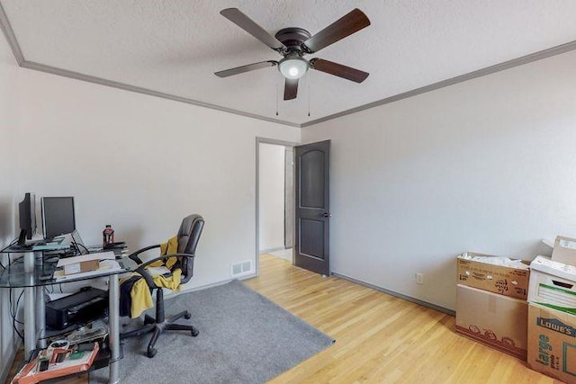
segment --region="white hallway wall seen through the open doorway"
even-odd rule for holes
[[[284,249],[284,146],[260,143],[259,251]]]

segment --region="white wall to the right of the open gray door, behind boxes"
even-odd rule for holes
[[[576,237],[575,68],[563,54],[302,129],[332,140],[332,271],[454,309],[455,255]]]

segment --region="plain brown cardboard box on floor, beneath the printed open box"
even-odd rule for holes
[[[461,284],[457,294],[456,333],[526,360],[526,300]]]

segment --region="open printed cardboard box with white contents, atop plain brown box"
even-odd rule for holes
[[[466,252],[458,255],[457,263],[458,284],[527,299],[530,279],[528,262]]]

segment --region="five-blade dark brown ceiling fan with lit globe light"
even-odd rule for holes
[[[368,17],[359,9],[354,9],[336,22],[331,23],[314,36],[309,31],[302,28],[284,28],[278,31],[273,37],[267,31],[252,21],[246,14],[241,13],[238,8],[227,8],[220,11],[230,22],[234,22],[238,27],[247,31],[257,40],[262,41],[271,49],[274,49],[284,58],[280,61],[267,60],[259,63],[248,64],[246,66],[235,67],[223,71],[215,72],[219,77],[238,75],[244,72],[265,67],[275,67],[286,78],[284,85],[284,100],[292,100],[298,94],[298,79],[304,76],[309,68],[325,72],[330,75],[339,76],[356,83],[362,83],[368,73],[356,68],[343,66],[322,58],[312,58],[307,60],[304,55],[318,52],[320,49],[328,47],[338,40],[360,31],[370,25]]]

